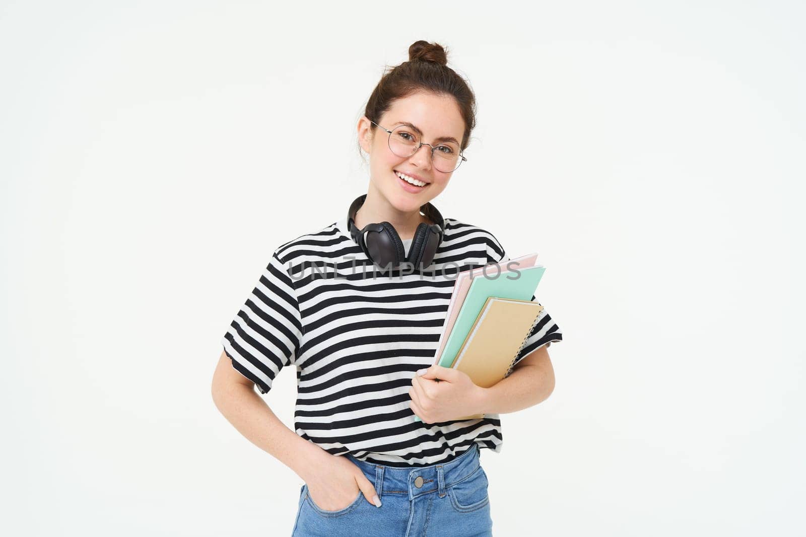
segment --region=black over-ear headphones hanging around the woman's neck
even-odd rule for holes
[[[400,235],[397,234],[392,224],[384,221],[380,224],[365,225],[364,229],[360,230],[355,227],[355,213],[358,213],[358,209],[366,199],[366,194],[358,196],[350,205],[350,210],[347,211],[347,229],[356,244],[361,246],[361,250],[364,250],[364,254],[367,254],[367,257],[382,269],[390,265],[391,268],[396,269],[402,262],[409,262],[414,268],[421,271],[430,266],[434,261],[434,254],[437,253],[437,248],[445,236],[445,221],[437,208],[430,203],[420,207],[422,213],[434,224],[421,222],[417,226],[409,255],[406,256]],[[364,233],[366,233],[366,238],[364,238]]]

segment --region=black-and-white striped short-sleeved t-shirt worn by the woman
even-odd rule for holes
[[[261,394],[294,366],[297,435],[333,455],[410,467],[451,461],[474,442],[500,452],[499,415],[423,423],[409,389],[434,363],[457,273],[508,260],[492,233],[447,218],[426,270],[384,272],[343,217],[274,250],[221,343]],[[544,308],[518,359],[562,340]]]

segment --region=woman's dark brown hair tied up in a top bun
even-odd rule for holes
[[[405,61],[381,76],[380,82],[369,96],[364,115],[380,122],[392,103],[409,94],[427,91],[447,94],[456,99],[464,120],[462,151],[470,143],[470,132],[476,126],[476,96],[462,76],[447,66],[447,54],[438,43],[416,41],[409,47],[409,61]],[[371,126],[373,133],[376,126]]]

